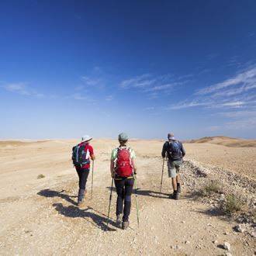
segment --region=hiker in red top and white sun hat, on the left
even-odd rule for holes
[[[72,160],[79,178],[78,206],[82,206],[85,202],[85,185],[90,172],[90,157],[95,161],[90,140],[92,137],[85,135],[81,138],[81,143],[73,147]]]

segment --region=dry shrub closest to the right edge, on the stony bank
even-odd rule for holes
[[[223,202],[223,211],[229,215],[240,212],[244,208],[244,202],[238,195],[230,194]]]

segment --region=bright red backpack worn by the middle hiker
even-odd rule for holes
[[[130,177],[133,175],[129,147],[119,147],[117,149],[116,175],[120,177]]]

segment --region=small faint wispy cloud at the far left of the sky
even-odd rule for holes
[[[1,86],[5,91],[17,93],[24,96],[33,96],[42,98],[43,93],[37,92],[36,89],[31,88],[26,82],[9,83]]]

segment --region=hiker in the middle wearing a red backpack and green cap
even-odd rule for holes
[[[119,147],[112,150],[110,171],[111,177],[115,181],[117,193],[116,224],[118,227],[121,227],[122,223],[123,230],[126,230],[129,227],[131,195],[134,183],[133,175],[137,174],[137,168],[135,164],[135,153],[133,149],[126,146],[128,141],[126,133],[120,133],[118,140]]]

